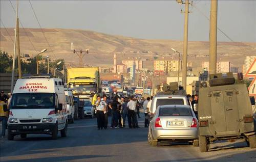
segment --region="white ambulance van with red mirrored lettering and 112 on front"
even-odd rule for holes
[[[63,82],[50,76],[26,76],[18,79],[13,90],[8,119],[8,140],[19,135],[51,134],[67,136],[67,104]]]

